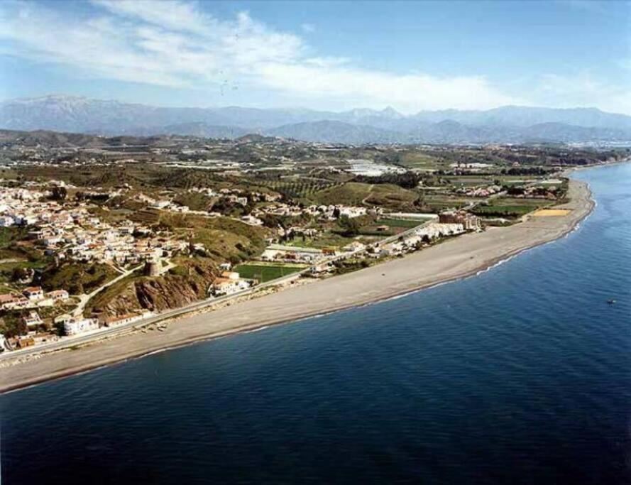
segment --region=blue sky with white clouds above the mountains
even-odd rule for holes
[[[0,2],[0,99],[631,114],[631,1]]]

